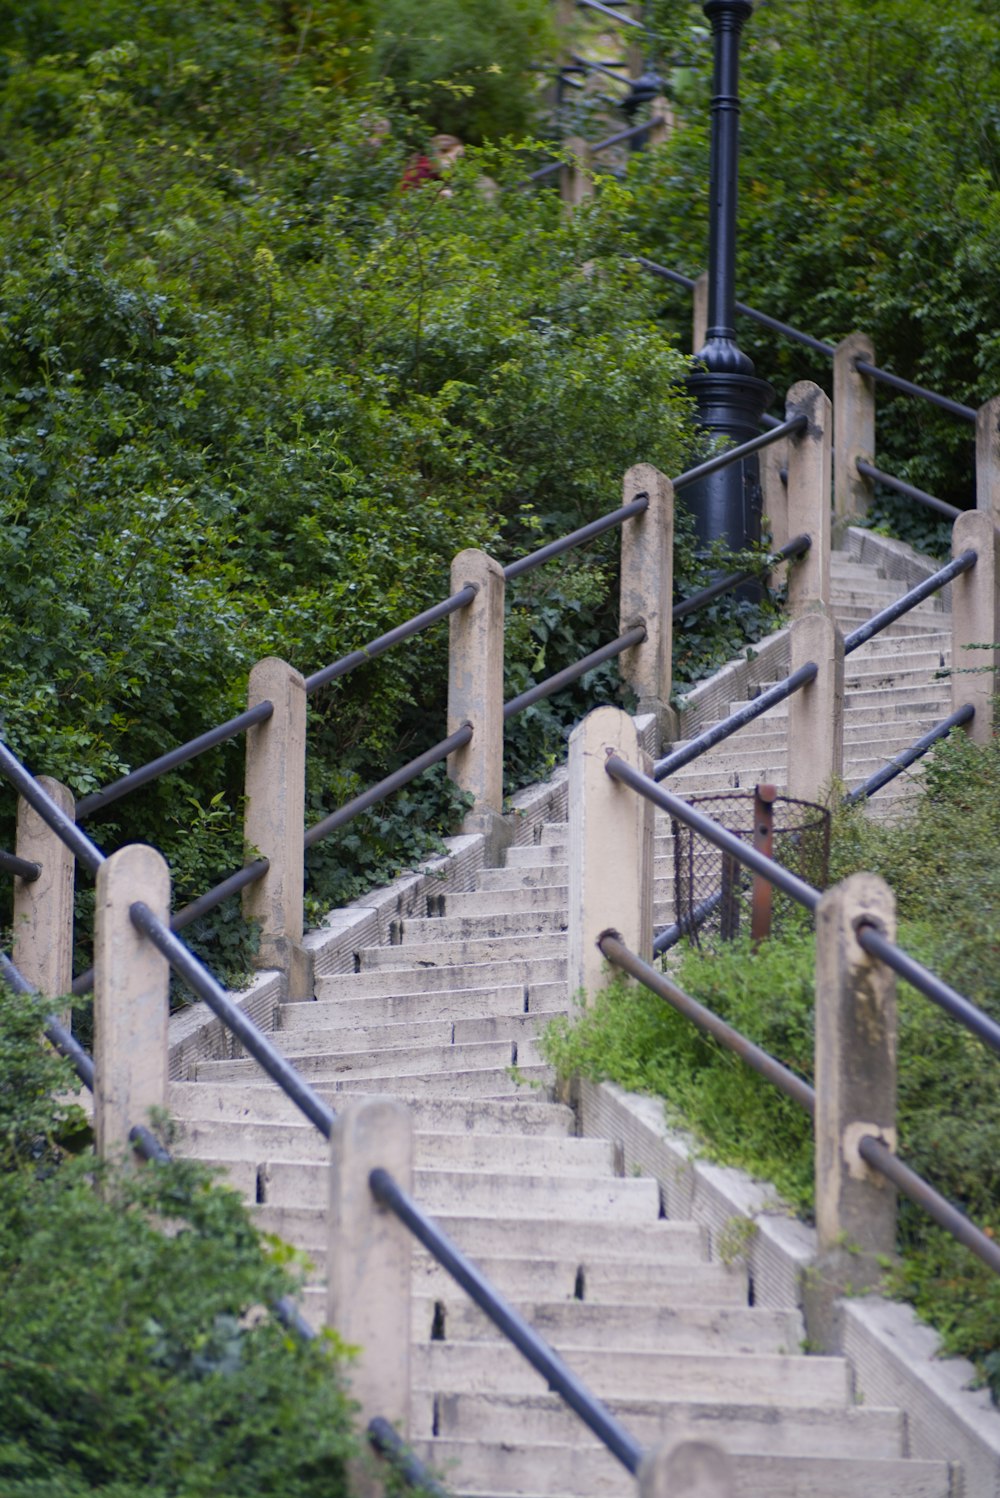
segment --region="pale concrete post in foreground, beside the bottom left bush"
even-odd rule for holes
[[[413,1189],[413,1129],[394,1098],[364,1098],[337,1115],[331,1138],[326,1324],[361,1351],[352,1395],[361,1423],[383,1416],[409,1435],[413,1239],[380,1207],[368,1177],[382,1167]]]

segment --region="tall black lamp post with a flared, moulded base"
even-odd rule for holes
[[[734,445],[760,430],[760,416],[774,398],[766,380],[737,343],[737,178],[740,156],[740,34],[753,15],[751,0],[704,0],[711,21],[716,69],[711,103],[711,214],[708,234],[708,330],[698,358],[705,374],[689,386],[702,425]],[[760,539],[760,469],[756,455],[731,463],[692,484],[687,502],[698,538],[708,545],[725,539],[740,550]]]

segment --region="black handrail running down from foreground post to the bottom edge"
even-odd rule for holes
[[[555,1393],[617,1456],[632,1474],[638,1473],[644,1449],[623,1425],[596,1399],[576,1374],[554,1353],[524,1317],[497,1294],[490,1281],[460,1252],[416,1203],[403,1191],[386,1170],[373,1170],[368,1183],[380,1206],[388,1207],[404,1222],[413,1237],[427,1248],[466,1294],[484,1311],[493,1324],[512,1342],[548,1381]]]

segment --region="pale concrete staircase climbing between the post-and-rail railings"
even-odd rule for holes
[[[903,587],[837,557],[844,629]],[[948,620],[916,614],[849,659],[847,770],[861,783],[949,710]],[[672,777],[680,794],[784,780],[780,709]],[[897,810],[906,779],[873,810]],[[672,920],[669,825],[657,825],[656,921]],[[949,1464],[907,1459],[898,1410],[859,1405],[844,1359],[807,1356],[798,1309],[750,1303],[747,1275],[693,1222],[666,1221],[653,1179],[576,1135],[536,1035],[566,1011],[566,824],[509,849],[472,893],[284,1004],[277,1043],[334,1107],[391,1094],[416,1129],[416,1198],[644,1443],[738,1453],[740,1495],[945,1498]],[[304,1249],[322,1320],[325,1144],[251,1061],[174,1083],[181,1147],[226,1170],[262,1228]],[[457,1494],[617,1495],[626,1471],[422,1251],[415,1251],[413,1446]]]

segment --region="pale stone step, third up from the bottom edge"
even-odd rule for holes
[[[566,1350],[566,1362],[599,1399],[714,1399],[720,1404],[843,1410],[850,1377],[843,1357],[725,1353],[629,1353],[603,1347]],[[413,1383],[469,1393],[542,1393],[545,1380],[516,1348],[491,1342],[421,1342]]]

